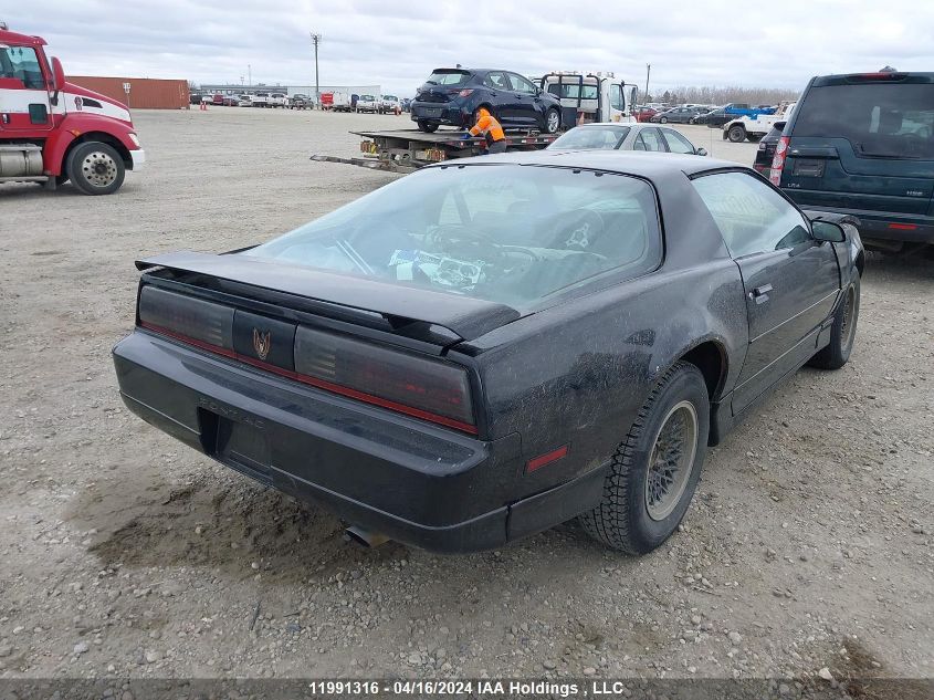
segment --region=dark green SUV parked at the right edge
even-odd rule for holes
[[[801,207],[859,219],[867,245],[934,243],[934,73],[812,77],[769,179]]]

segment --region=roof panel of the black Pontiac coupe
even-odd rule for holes
[[[458,158],[455,161],[441,163],[431,168],[444,168],[462,165],[494,165],[514,164],[531,166],[552,166],[562,168],[585,168],[589,170],[605,170],[620,175],[636,175],[647,179],[657,179],[681,171],[692,176],[709,170],[752,168],[732,163],[697,156],[685,156],[671,153],[642,153],[638,150],[536,150],[532,153],[507,153],[474,158]]]

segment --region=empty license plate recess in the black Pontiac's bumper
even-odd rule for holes
[[[272,482],[269,438],[263,429],[200,409],[204,451],[219,462],[263,483]]]

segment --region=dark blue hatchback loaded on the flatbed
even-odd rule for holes
[[[412,100],[412,121],[422,132],[439,126],[470,127],[486,107],[504,128],[556,133],[562,105],[532,81],[502,70],[435,69]]]

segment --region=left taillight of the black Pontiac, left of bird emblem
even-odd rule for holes
[[[139,325],[222,354],[233,353],[233,309],[229,306],[144,286]]]

